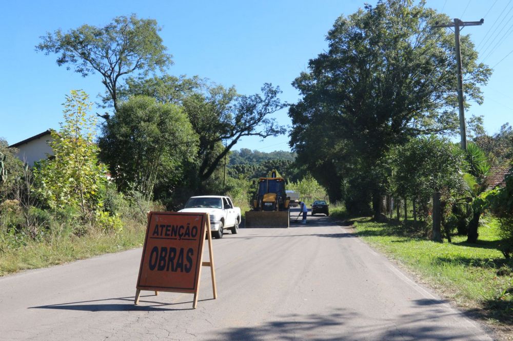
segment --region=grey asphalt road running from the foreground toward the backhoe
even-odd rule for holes
[[[142,249],[0,278],[0,339],[490,339],[325,217],[213,247],[219,297],[204,268],[197,309],[167,292],[133,305]]]

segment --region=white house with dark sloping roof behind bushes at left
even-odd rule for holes
[[[29,166],[33,166],[35,161],[46,159],[47,155],[53,155],[52,148],[48,144],[49,141],[53,140],[50,134],[50,130],[44,131],[41,134],[11,144],[9,148],[16,148],[18,150],[16,156],[28,163]]]

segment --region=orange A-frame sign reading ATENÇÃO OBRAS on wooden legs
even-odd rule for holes
[[[203,243],[208,237],[210,262],[203,262]],[[149,212],[135,304],[141,290],[193,293],[198,305],[202,266],[210,266],[212,291],[215,287],[210,219],[206,213]]]

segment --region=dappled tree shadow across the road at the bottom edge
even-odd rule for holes
[[[419,300],[418,306],[443,303],[437,300]],[[425,302],[424,302],[425,301]],[[429,301],[429,302],[427,302]],[[440,311],[438,307],[423,310],[419,315],[400,315],[393,319],[372,322],[350,309],[339,308],[325,315],[290,314],[276,316],[274,321],[254,327],[229,328],[213,335],[210,340],[469,340],[476,335],[464,328],[447,329],[440,323],[457,314]],[[384,322],[384,323],[383,323]],[[341,329],[341,326],[344,326]],[[342,331],[341,331],[342,330]]]

